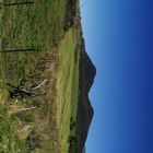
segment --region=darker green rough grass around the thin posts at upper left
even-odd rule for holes
[[[35,0],[34,4],[2,9],[2,49],[35,48],[38,52],[1,54],[0,75],[17,84],[34,70],[45,52],[64,34],[64,9],[66,0]]]

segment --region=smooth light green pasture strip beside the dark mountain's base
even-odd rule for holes
[[[76,121],[79,92],[79,50],[76,50],[76,40],[73,34],[73,30],[67,33],[59,49],[57,115],[59,118],[61,153],[69,152],[69,138],[75,136],[75,130],[70,131],[71,118]],[[76,59],[75,51],[78,51]]]

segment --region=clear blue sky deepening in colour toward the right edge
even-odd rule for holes
[[[81,0],[97,69],[86,153],[153,153],[153,2]]]

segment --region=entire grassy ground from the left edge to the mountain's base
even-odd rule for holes
[[[35,0],[0,10],[0,50],[35,49],[0,52],[0,153],[76,152],[80,37],[64,32],[66,8]],[[11,85],[36,95],[11,96]]]

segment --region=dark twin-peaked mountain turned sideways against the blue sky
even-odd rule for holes
[[[95,74],[96,69],[83,48],[80,58],[80,95],[76,127],[79,153],[85,145],[90,125],[94,114],[93,107],[89,99],[89,92],[94,83]]]

